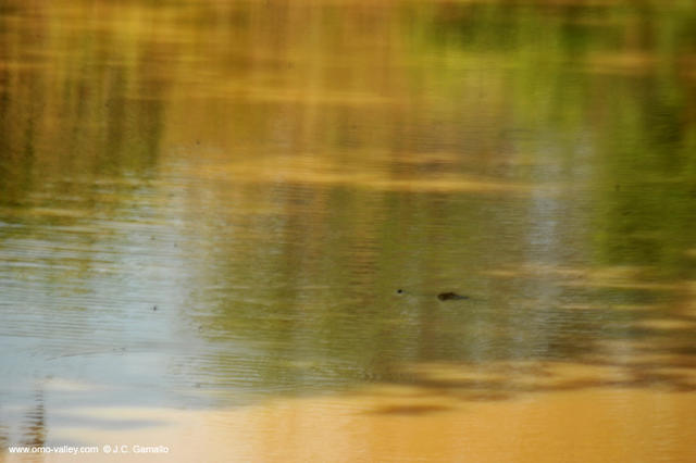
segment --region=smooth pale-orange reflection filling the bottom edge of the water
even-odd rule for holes
[[[533,365],[519,366],[524,374]],[[420,368],[431,368],[440,377],[447,371],[462,376],[461,367],[451,365]],[[373,386],[332,397],[278,399],[220,411],[85,409],[80,413],[87,417],[166,425],[135,430],[63,428],[59,436],[97,445],[170,448],[161,456],[100,454],[89,461],[536,463],[693,461],[696,456],[693,393],[582,387],[583,380],[596,379],[597,368],[570,364],[544,368],[580,387],[472,401],[436,388]]]

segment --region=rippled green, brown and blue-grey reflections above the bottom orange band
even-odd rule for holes
[[[80,408],[365,384],[398,416],[681,403],[694,21],[679,1],[5,2],[0,440],[170,420]]]

